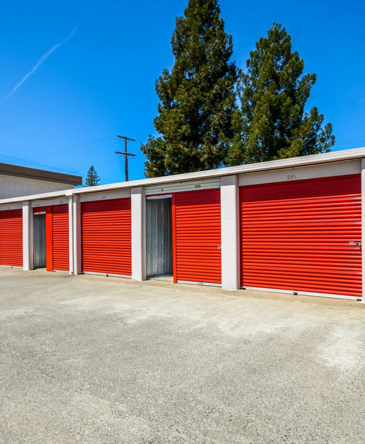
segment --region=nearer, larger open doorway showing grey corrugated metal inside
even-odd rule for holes
[[[172,275],[171,197],[146,200],[146,274]]]

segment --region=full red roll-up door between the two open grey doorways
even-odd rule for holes
[[[81,203],[82,271],[132,274],[131,199]]]

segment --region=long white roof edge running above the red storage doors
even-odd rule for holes
[[[258,173],[284,168],[294,168],[308,165],[320,165],[324,163],[338,162],[341,160],[353,160],[365,158],[365,148],[345,149],[341,151],[330,151],[322,154],[312,154],[309,156],[292,157],[289,159],[270,160],[268,162],[251,163],[234,167],[219,168],[216,170],[198,171],[194,173],[175,174],[171,176],[156,177],[151,179],[140,179],[130,182],[117,182],[108,185],[87,186],[83,188],[68,189],[50,193],[35,194],[31,196],[12,197],[0,199],[1,204],[21,202],[26,200],[47,199],[60,196],[72,196],[74,194],[93,193],[109,191],[113,189],[133,188],[136,186],[163,185],[172,182],[185,182],[191,180],[208,179],[236,174]]]

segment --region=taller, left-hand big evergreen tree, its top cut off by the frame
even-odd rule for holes
[[[154,127],[141,149],[145,174],[157,177],[217,168],[233,137],[237,68],[232,37],[217,0],[189,0],[171,38],[175,65],[156,80],[160,99]]]

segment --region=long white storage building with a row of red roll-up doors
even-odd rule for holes
[[[0,265],[361,299],[365,148],[0,200]]]

